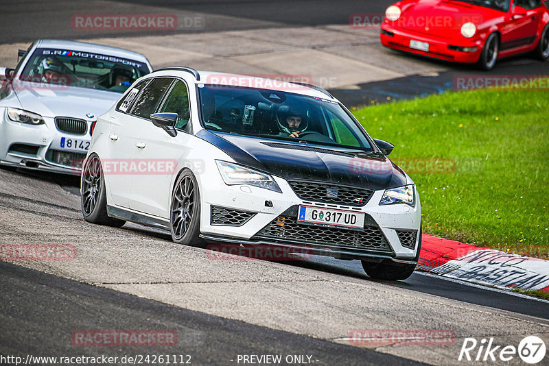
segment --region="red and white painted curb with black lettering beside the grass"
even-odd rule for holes
[[[423,234],[417,270],[494,286],[549,292],[549,260]]]

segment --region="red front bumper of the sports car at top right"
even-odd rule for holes
[[[473,64],[478,62],[480,53],[482,53],[482,41],[476,37],[471,38],[470,40],[465,38],[460,40],[449,40],[436,36],[430,36],[428,34],[412,32],[407,29],[393,27],[386,23],[382,24],[381,29],[382,32],[379,34],[379,38],[385,47],[416,53],[421,56],[438,58],[439,60]],[[410,40],[418,40],[420,42],[429,43],[429,51],[421,51],[419,49],[410,48]],[[460,49],[465,47],[476,48],[476,51],[460,51]]]

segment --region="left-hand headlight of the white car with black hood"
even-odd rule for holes
[[[238,164],[215,160],[218,164],[219,172],[225,184],[233,186],[235,184],[248,184],[259,188],[265,188],[270,191],[282,193],[277,182],[268,174],[261,171],[248,169]]]

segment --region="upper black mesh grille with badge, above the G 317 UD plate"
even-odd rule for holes
[[[326,202],[347,206],[364,206],[373,191],[364,188],[322,184],[318,182],[288,182],[296,195],[304,201]]]

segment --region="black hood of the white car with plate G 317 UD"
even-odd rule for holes
[[[197,137],[219,147],[236,162],[285,180],[312,180],[373,190],[406,184],[404,172],[386,156],[353,154],[337,147],[303,145],[200,130]]]

